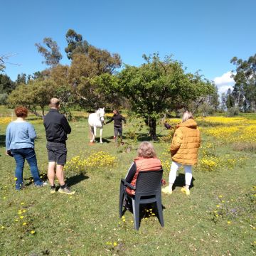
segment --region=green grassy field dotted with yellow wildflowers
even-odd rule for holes
[[[256,120],[252,115],[250,119],[198,118],[203,144],[198,167],[193,169],[191,196],[180,192],[181,170],[174,193],[162,196],[165,227],[149,214],[154,213],[149,206],[139,231],[133,228],[132,213],[126,212],[123,219],[118,213],[119,179],[127,173],[139,142],[147,139],[145,128],[139,137],[134,135],[138,120],[124,127],[124,141],[132,146],[128,152],[127,144],[114,145],[112,123],[104,127],[104,143],[90,145],[87,120],[70,122],[66,177],[76,191],[73,196],[50,194],[49,186],[35,188],[27,164],[23,175],[27,186],[14,190],[14,159],[4,155],[8,122],[0,118],[0,255],[255,255]],[[38,134],[38,166],[45,177],[45,132],[41,119],[32,123]],[[154,146],[168,181],[170,135],[162,126],[158,132],[160,141]]]

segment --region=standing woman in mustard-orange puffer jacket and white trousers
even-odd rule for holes
[[[171,142],[171,171],[169,186],[162,188],[163,193],[171,194],[178,169],[185,170],[186,186],[181,188],[186,195],[190,194],[189,186],[192,180],[192,166],[197,164],[198,149],[201,144],[201,135],[191,112],[184,112],[181,124],[178,124]]]

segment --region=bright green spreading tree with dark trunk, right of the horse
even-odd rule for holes
[[[187,107],[191,100],[213,92],[212,83],[200,75],[186,74],[182,64],[158,54],[146,57],[140,67],[126,65],[119,77],[119,90],[129,99],[132,109],[144,119],[151,139],[156,139],[156,120],[175,107]]]

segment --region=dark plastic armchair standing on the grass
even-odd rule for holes
[[[132,200],[134,214],[134,228],[139,230],[139,205],[146,203],[156,203],[159,222],[164,227],[163,209],[161,205],[161,178],[163,170],[160,171],[140,171],[137,177],[136,187],[121,179],[119,194],[119,217],[123,215],[124,195]],[[134,189],[135,196],[130,196],[125,189]]]

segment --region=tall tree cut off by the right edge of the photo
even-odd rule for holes
[[[250,56],[248,60],[232,58],[230,63],[236,65],[236,73],[233,73],[235,80],[235,93],[238,96],[238,104],[240,100],[245,100],[245,110],[255,110],[256,102],[256,54]]]

